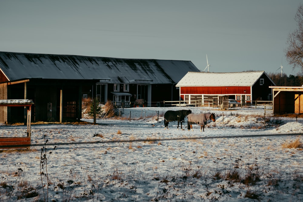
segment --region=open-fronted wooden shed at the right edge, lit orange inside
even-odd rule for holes
[[[302,86],[271,86],[273,93],[273,114],[302,114]]]

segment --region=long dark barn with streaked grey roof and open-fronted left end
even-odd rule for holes
[[[0,52],[0,99],[33,100],[33,121],[74,120],[82,118],[82,98],[126,107],[137,98],[148,106],[177,100],[175,85],[188,71],[199,70],[181,60]],[[20,121],[22,113],[0,107],[0,122]]]

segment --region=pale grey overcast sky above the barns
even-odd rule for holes
[[[2,0],[0,51],[191,61],[296,75],[285,58],[301,0]],[[207,69],[205,70],[207,71]]]

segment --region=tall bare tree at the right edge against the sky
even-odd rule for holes
[[[295,15],[298,28],[288,34],[288,48],[285,49],[286,59],[293,68],[299,67],[303,71],[303,5],[298,6]]]

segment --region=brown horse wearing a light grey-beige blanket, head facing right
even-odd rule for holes
[[[204,127],[207,124],[207,120],[216,121],[216,117],[214,113],[207,113],[207,114],[188,114],[187,116],[187,129],[188,131],[192,129],[192,124],[200,124],[200,131],[202,132],[202,127],[204,131]]]

